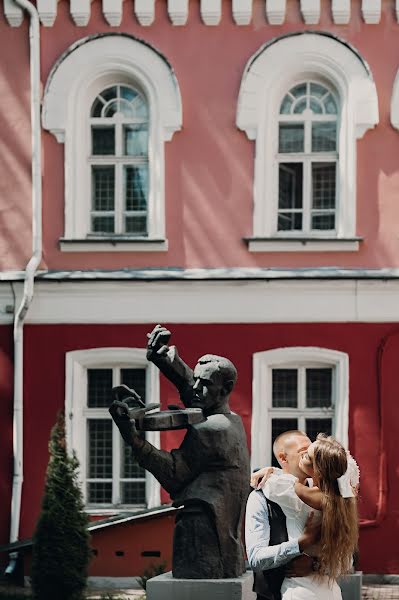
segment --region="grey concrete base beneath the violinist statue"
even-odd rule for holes
[[[253,574],[235,579],[174,579],[171,571],[147,581],[147,600],[255,600]]]

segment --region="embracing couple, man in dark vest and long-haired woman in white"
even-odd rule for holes
[[[281,469],[252,475],[246,548],[258,600],[340,600],[337,577],[357,549],[359,470],[334,438],[286,431],[273,445]]]

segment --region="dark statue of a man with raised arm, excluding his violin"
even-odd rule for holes
[[[166,452],[140,437],[124,402],[114,401],[110,413],[137,462],[158,479],[173,505],[181,507],[173,539],[173,576],[239,577],[244,571],[241,524],[250,470],[241,418],[229,408],[237,371],[227,358],[207,354],[193,372],[176,348],[168,347],[170,335],[157,325],[149,334],[147,357],[177,387],[184,405],[202,408],[206,420],[189,425],[180,447]]]

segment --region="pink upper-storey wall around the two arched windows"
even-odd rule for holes
[[[99,32],[123,31],[143,39],[170,61],[181,89],[184,127],[165,144],[165,253],[62,253],[64,228],[64,146],[43,133],[43,265],[51,269],[170,266],[399,266],[396,223],[399,220],[399,135],[390,124],[390,101],[399,60],[395,48],[398,23],[394,2],[382,3],[379,25],[367,25],[359,0],[352,16],[335,25],[331,2],[322,2],[320,24],[303,23],[299,3],[289,2],[286,22],[270,26],[264,0],[254,0],[250,26],[234,24],[231,1],[223,2],[217,27],[205,26],[199,2],[190,2],[187,25],[174,27],[166,3],[156,3],[151,27],[138,24],[125,5],[119,28],[109,27],[101,3],[92,3],[87,27],[76,27],[69,3],[58,3],[53,27],[41,28],[42,82],[75,41]],[[352,44],[370,65],[377,85],[380,123],[357,143],[357,234],[359,252],[249,253],[242,238],[252,234],[252,186],[255,144],[235,125],[241,77],[249,58],[267,41],[293,31],[327,31]],[[4,106],[0,148],[1,268],[21,268],[30,255],[30,116],[27,27],[9,27],[0,14],[2,66],[0,90]],[[212,68],[210,68],[212,65]],[[0,114],[1,119],[1,114]],[[221,223],[223,227],[221,227]],[[16,234],[18,232],[18,234]]]

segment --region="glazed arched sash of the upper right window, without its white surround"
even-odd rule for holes
[[[277,231],[336,232],[338,101],[325,85],[296,84],[278,118]]]

